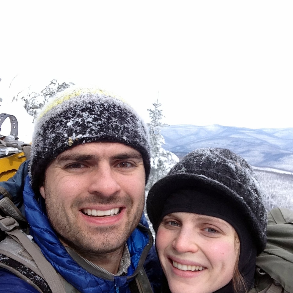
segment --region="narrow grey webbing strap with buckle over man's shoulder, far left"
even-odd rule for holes
[[[21,244],[28,254],[31,255],[52,293],[65,293],[64,286],[55,269],[47,259],[45,259],[44,255],[38,250],[35,244],[31,242],[27,235],[18,229],[18,227],[19,224],[15,219],[11,217],[2,217],[0,215],[0,229]]]

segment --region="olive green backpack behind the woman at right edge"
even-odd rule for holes
[[[267,245],[256,266],[255,288],[250,293],[293,293],[293,211],[274,208],[269,212]]]

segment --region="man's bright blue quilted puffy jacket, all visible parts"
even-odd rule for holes
[[[161,268],[154,246],[150,248],[152,240],[149,237],[149,233],[147,229],[141,226],[138,226],[127,240],[131,255],[131,266],[128,269],[127,276],[113,277],[111,280],[107,280],[96,277],[79,266],[67,253],[52,230],[45,211],[36,200],[35,194],[31,189],[28,176],[25,183],[23,183],[24,174],[27,173],[27,164],[28,162],[26,161],[20,166],[20,170],[14,175],[13,179],[8,182],[0,182],[0,192],[3,190],[8,192],[19,208],[22,202],[24,202],[25,216],[30,224],[30,233],[34,241],[41,248],[45,258],[68,283],[72,284],[74,288],[82,293],[130,292],[129,282],[138,273],[139,269],[144,266],[154,291],[158,290]],[[20,189],[23,187],[23,196],[21,196]],[[1,196],[0,194],[0,198]],[[140,223],[145,227],[148,226],[144,215]],[[24,280],[3,268],[0,268],[0,284],[1,293],[38,292]]]

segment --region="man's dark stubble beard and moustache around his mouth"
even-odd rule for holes
[[[58,201],[58,195],[48,192],[45,188],[45,204],[48,218],[51,222],[60,241],[66,246],[75,250],[79,255],[87,259],[105,257],[105,254],[113,253],[123,248],[125,242],[136,228],[143,213],[144,200],[138,201],[136,211],[133,211],[133,200],[127,196],[125,198],[116,195],[103,197],[91,195],[83,200],[74,201],[69,211],[66,211],[64,203]],[[143,194],[144,196],[144,194]],[[124,215],[127,221],[123,226],[108,226],[96,228],[83,228],[78,224],[80,206],[84,204],[119,204],[130,207],[128,213]]]

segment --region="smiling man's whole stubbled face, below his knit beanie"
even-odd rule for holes
[[[141,154],[121,143],[85,143],[61,153],[40,193],[60,240],[82,256],[120,249],[141,218]]]

